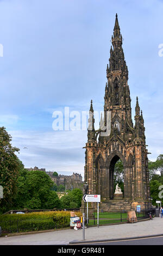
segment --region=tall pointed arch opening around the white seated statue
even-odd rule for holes
[[[118,155],[115,155],[109,166],[109,198],[114,199],[116,185],[124,193],[124,168],[123,163]]]

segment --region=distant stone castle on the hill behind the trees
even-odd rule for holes
[[[39,169],[38,167],[34,168],[26,168],[27,170],[42,170],[43,172],[46,172],[45,168]],[[54,176],[54,172],[46,172],[51,179],[54,181],[55,184],[59,185],[64,185],[66,186],[67,190],[71,190],[72,188],[80,188],[83,190],[83,184],[84,181],[82,181],[82,175],[78,173],[73,173],[72,175],[61,175],[59,174],[58,176]]]

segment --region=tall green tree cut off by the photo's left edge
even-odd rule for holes
[[[0,185],[3,187],[3,199],[0,199],[0,210],[10,210],[17,192],[17,177],[22,163],[15,153],[18,148],[12,147],[11,136],[4,127],[0,127]]]

